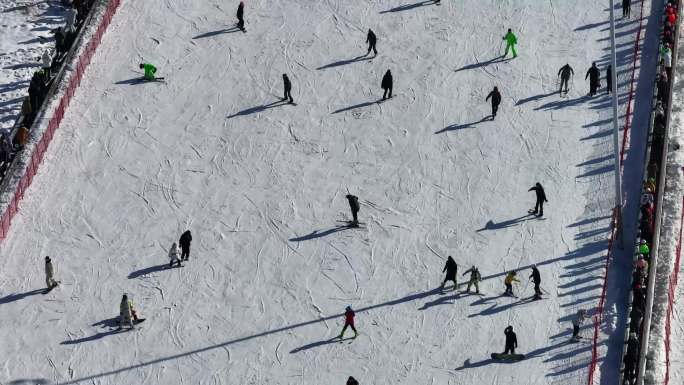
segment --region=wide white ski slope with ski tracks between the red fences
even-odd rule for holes
[[[124,1],[0,251],[0,381],[585,384],[592,328],[567,341],[598,301],[614,204],[610,101],[584,81],[607,63],[608,9],[442,3],[253,0],[242,34],[236,4]],[[618,25],[623,104],[636,19]],[[141,61],[166,82],[137,82]],[[275,103],[283,73],[296,106]],[[526,215],[537,181],[543,219]],[[340,227],[347,190],[362,229]],[[165,269],[188,228],[191,261]],[[436,289],[447,255],[484,296]],[[548,295],[530,302],[535,263]],[[510,269],[520,299],[501,296]],[[109,327],[123,292],[135,332]],[[340,343],[346,305],[361,334]],[[489,359],[507,325],[526,360]]]

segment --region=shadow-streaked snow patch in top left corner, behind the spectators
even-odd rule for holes
[[[50,31],[64,25],[63,14],[54,0],[0,2],[0,128],[12,127],[19,116],[38,58],[47,48],[54,52]]]

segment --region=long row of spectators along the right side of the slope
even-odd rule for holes
[[[678,0],[668,0],[663,15],[663,30],[660,39],[658,75],[656,79],[653,131],[650,156],[646,167],[645,181],[639,212],[639,235],[634,250],[634,271],[632,273],[632,303],[629,313],[629,337],[624,356],[623,384],[634,384],[639,363],[642,338],[642,321],[646,312],[646,295],[651,262],[651,245],[655,229],[655,210],[658,185],[663,183],[659,170],[664,167],[663,147],[666,144],[668,103],[672,80],[672,51],[674,49],[678,18]]]

